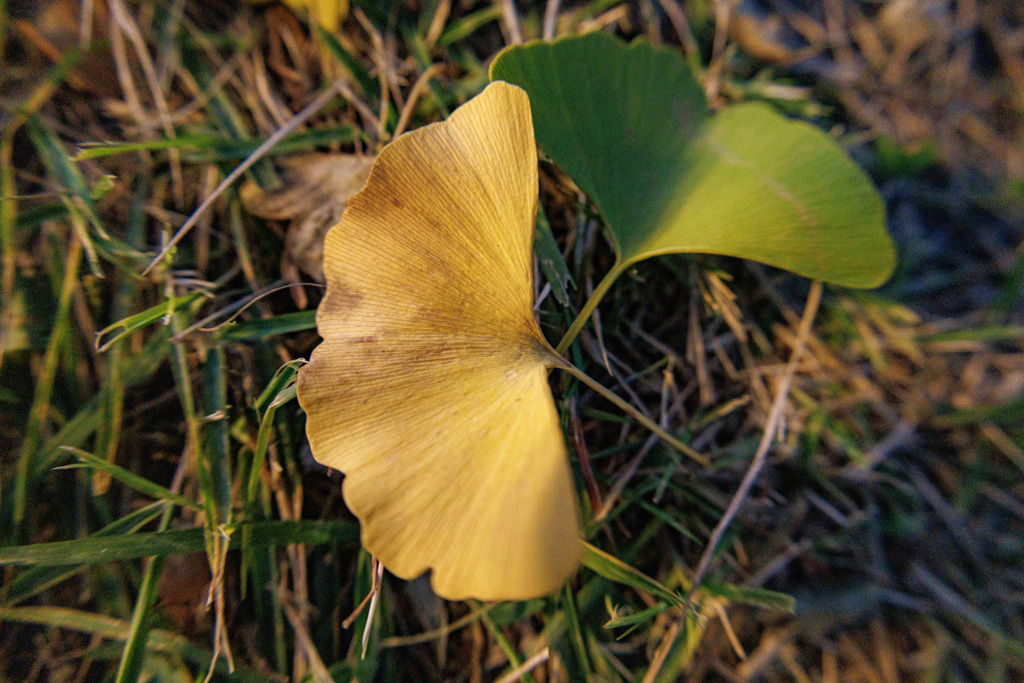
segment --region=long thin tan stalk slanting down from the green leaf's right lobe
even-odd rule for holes
[[[793,385],[793,378],[797,374],[797,366],[800,362],[801,354],[804,352],[804,346],[807,345],[807,337],[811,332],[811,324],[814,322],[814,315],[818,311],[818,304],[820,302],[821,283],[814,281],[811,285],[811,291],[807,295],[807,305],[804,307],[804,316],[800,319],[800,329],[797,331],[797,341],[793,347],[793,354],[790,356],[790,365],[786,367],[785,375],[782,376],[782,381],[778,385],[778,391],[775,393],[775,400],[772,403],[771,413],[768,415],[768,424],[765,425],[765,431],[761,435],[758,451],[754,455],[754,460],[751,462],[743,480],[739,483],[739,488],[729,502],[729,507],[726,508],[725,514],[722,515],[722,519],[711,535],[711,540],[708,541],[708,547],[705,548],[705,552],[700,556],[697,568],[693,572],[693,583],[688,596],[689,600],[693,599],[693,594],[700,585],[700,579],[708,571],[708,566],[711,564],[711,558],[715,554],[715,549],[722,541],[722,537],[725,536],[725,530],[729,527],[729,523],[736,516],[736,513],[739,512],[740,506],[746,500],[751,487],[754,485],[755,480],[757,480],[768,458],[768,450],[775,439],[775,432],[782,420],[782,411],[790,395],[790,387]]]

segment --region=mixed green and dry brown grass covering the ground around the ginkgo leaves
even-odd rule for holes
[[[0,3],[3,677],[1024,675],[1024,260],[1020,196],[1002,191],[1020,180],[1004,87],[1019,8],[926,16],[907,51],[866,2],[774,24],[541,4],[353,2],[328,33],[276,4]],[[482,90],[517,38],[601,27],[706,65],[714,108],[768,100],[831,128],[877,172],[899,265],[880,291],[825,289],[803,331],[813,290],[766,266],[624,269],[569,359],[710,471],[558,380],[584,568],[540,599],[445,602],[360,550],[309,457],[292,398],[322,294],[293,245],[323,220],[260,219],[241,185],[288,187],[286,155],[376,154]],[[862,80],[837,76],[851,65]],[[906,112],[949,120],[918,87],[956,93],[965,74],[977,87],[947,99],[970,125],[943,123],[918,163]],[[544,160],[540,187],[537,313],[557,339],[616,254]],[[701,563],[786,377],[764,469]]]

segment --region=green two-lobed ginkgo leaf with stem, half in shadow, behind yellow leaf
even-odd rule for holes
[[[616,264],[584,319],[627,267],[659,254],[738,256],[858,288],[892,273],[882,199],[844,151],[763,103],[710,113],[677,50],[600,32],[534,41],[501,52],[490,78],[526,91],[538,142],[613,238]]]

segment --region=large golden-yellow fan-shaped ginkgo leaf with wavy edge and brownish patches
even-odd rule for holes
[[[345,473],[362,543],[449,599],[524,599],[580,561],[532,310],[529,102],[494,83],[398,137],[327,237],[324,342],[299,376],[313,456]]]

